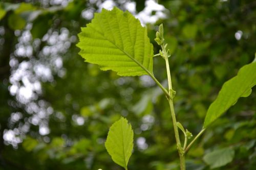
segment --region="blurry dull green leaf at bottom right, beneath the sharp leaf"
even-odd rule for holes
[[[234,150],[231,148],[224,148],[207,153],[203,160],[210,165],[210,168],[216,168],[226,165],[231,162],[234,157]]]

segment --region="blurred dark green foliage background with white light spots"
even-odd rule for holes
[[[101,71],[78,55],[80,27],[113,6],[141,20],[155,54],[155,32],[163,23],[177,119],[194,136],[222,84],[254,59],[255,1],[4,0],[0,169],[122,169],[104,149],[108,129],[121,115],[135,132],[129,169],[179,169],[168,103],[154,81]],[[161,57],[154,58],[154,74],[167,85]],[[256,168],[253,90],[193,145],[187,169],[210,169],[204,155],[222,148],[235,154],[216,169]]]

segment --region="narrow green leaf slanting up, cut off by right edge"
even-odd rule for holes
[[[249,96],[254,85],[256,85],[256,62],[243,66],[236,77],[223,84],[217,99],[207,110],[204,128],[236,104],[239,98]]]

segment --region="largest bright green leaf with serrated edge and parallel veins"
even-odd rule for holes
[[[147,30],[127,11],[102,9],[78,37],[79,54],[102,70],[111,69],[119,76],[153,73],[153,45]]]

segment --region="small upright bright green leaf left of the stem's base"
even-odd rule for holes
[[[127,168],[133,150],[133,130],[127,119],[121,117],[110,127],[105,148],[115,163]]]

